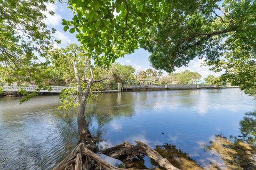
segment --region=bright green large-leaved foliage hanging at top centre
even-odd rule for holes
[[[133,53],[169,6],[169,1],[69,0],[74,17],[62,20],[63,30],[76,32],[95,64],[109,66],[118,57]]]

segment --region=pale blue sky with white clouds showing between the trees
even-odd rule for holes
[[[73,18],[73,14],[71,10],[67,8],[67,4],[61,4],[59,1],[56,1],[55,4],[46,4],[47,10],[53,11],[55,15],[50,15],[48,12],[44,12],[47,16],[45,19],[45,23],[49,25],[51,28],[55,28],[57,31],[55,32],[55,37],[61,40],[61,44],[55,44],[55,47],[65,47],[67,44],[76,43],[79,44],[77,39],[75,38],[75,33],[69,33],[69,31],[63,31],[63,26],[61,25],[62,19],[71,20]],[[124,65],[132,65],[135,69],[146,70],[149,68],[153,68],[148,60],[150,53],[146,50],[139,48],[135,50],[133,54],[125,55],[122,58],[118,58],[116,60],[117,63],[121,63]],[[221,73],[214,73],[209,70],[207,66],[201,66],[203,60],[199,60],[195,58],[193,61],[190,61],[188,67],[182,66],[180,68],[176,68],[175,72],[181,72],[184,70],[189,70],[193,72],[198,72],[202,75],[202,80],[207,77],[207,75],[215,75],[219,76]],[[167,73],[164,72],[164,75]]]

